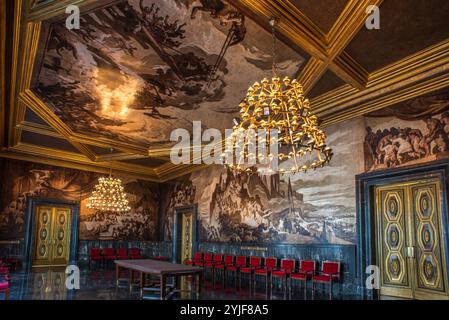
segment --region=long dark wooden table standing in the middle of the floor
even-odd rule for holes
[[[191,292],[196,293],[197,299],[199,299],[201,290],[201,278],[203,275],[203,269],[199,267],[186,266],[183,264],[171,263],[166,261],[152,260],[152,259],[139,259],[139,260],[115,260],[115,278],[116,285],[118,287],[120,280],[121,269],[129,270],[129,290],[132,290],[134,283],[134,273],[140,274],[140,296],[143,297],[143,291],[145,288],[145,279],[147,275],[159,277],[160,284],[160,299],[164,300],[174,292],[179,291],[177,283],[178,278],[181,276],[192,276]],[[167,278],[173,277],[175,279],[174,290],[167,290]]]

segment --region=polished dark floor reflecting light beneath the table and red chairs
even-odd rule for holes
[[[140,291],[135,287],[131,292],[128,283],[121,281],[116,287],[114,270],[88,270],[80,271],[80,289],[68,290],[66,288],[65,269],[43,268],[34,269],[30,273],[14,272],[11,282],[12,300],[134,300],[140,299]],[[185,282],[187,285],[187,281]],[[232,279],[229,286],[222,288],[221,282],[217,281],[216,288],[212,287],[210,281],[206,281],[201,292],[201,299],[210,300],[265,300],[265,287],[261,286],[253,294],[247,289],[247,282],[242,282],[242,289],[235,290]],[[292,290],[291,299],[304,299],[303,289],[295,287]],[[308,290],[308,299],[311,299],[311,291]],[[147,292],[146,299],[158,299],[155,293]],[[176,293],[173,299],[189,299],[191,296],[186,293]],[[279,285],[273,288],[271,299],[282,300],[284,293]],[[334,290],[334,299],[352,300],[360,299],[359,296],[348,296],[340,292],[338,286]],[[2,299],[2,297],[0,297]],[[317,290],[315,299],[328,299],[328,294]]]

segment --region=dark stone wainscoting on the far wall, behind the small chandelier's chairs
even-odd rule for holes
[[[141,250],[145,258],[164,256],[172,258],[171,241],[116,241],[116,240],[80,240],[78,246],[78,262],[81,264],[89,261],[90,248],[132,248]]]

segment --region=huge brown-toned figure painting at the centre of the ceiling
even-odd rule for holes
[[[34,90],[77,132],[152,147],[175,128],[232,126],[255,80],[271,76],[271,34],[225,1],[128,0],[49,31]],[[279,74],[304,63],[278,42]]]

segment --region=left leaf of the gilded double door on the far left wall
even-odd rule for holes
[[[53,210],[51,207],[36,209],[35,250],[33,265],[49,265],[52,259]]]

